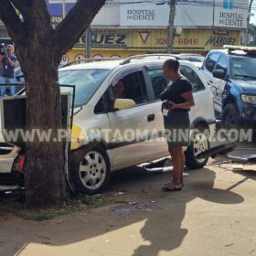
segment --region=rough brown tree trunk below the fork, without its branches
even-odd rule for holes
[[[23,51],[21,59],[32,60],[22,63],[27,86],[27,129],[31,134],[34,129],[37,131],[35,134],[51,134],[48,141],[40,141],[36,135],[33,142],[27,142],[27,204],[59,204],[66,194],[64,144],[56,141],[61,128],[59,58],[50,44],[45,47],[32,44],[27,52]],[[43,104],[38,107],[38,102]]]

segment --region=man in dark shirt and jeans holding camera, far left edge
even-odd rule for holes
[[[16,56],[14,55],[15,48],[12,45],[8,45],[7,53],[5,56],[0,56],[3,64],[2,76],[0,77],[0,83],[10,83],[16,84],[15,78],[15,66],[16,66]],[[9,89],[11,95],[15,95],[16,87],[15,86],[1,86],[0,95],[5,97],[6,90]]]

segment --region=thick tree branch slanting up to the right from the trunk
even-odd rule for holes
[[[90,26],[106,0],[78,0],[69,14],[56,27],[59,56],[65,54]]]

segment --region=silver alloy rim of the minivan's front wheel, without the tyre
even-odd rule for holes
[[[106,174],[106,161],[99,152],[89,152],[80,162],[80,181],[84,187],[89,189],[97,189],[101,187]]]

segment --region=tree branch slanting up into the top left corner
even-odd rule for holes
[[[15,42],[22,43],[23,35],[26,33],[24,24],[19,16],[16,15],[16,10],[9,0],[0,0],[0,18],[5,24],[10,37]]]

